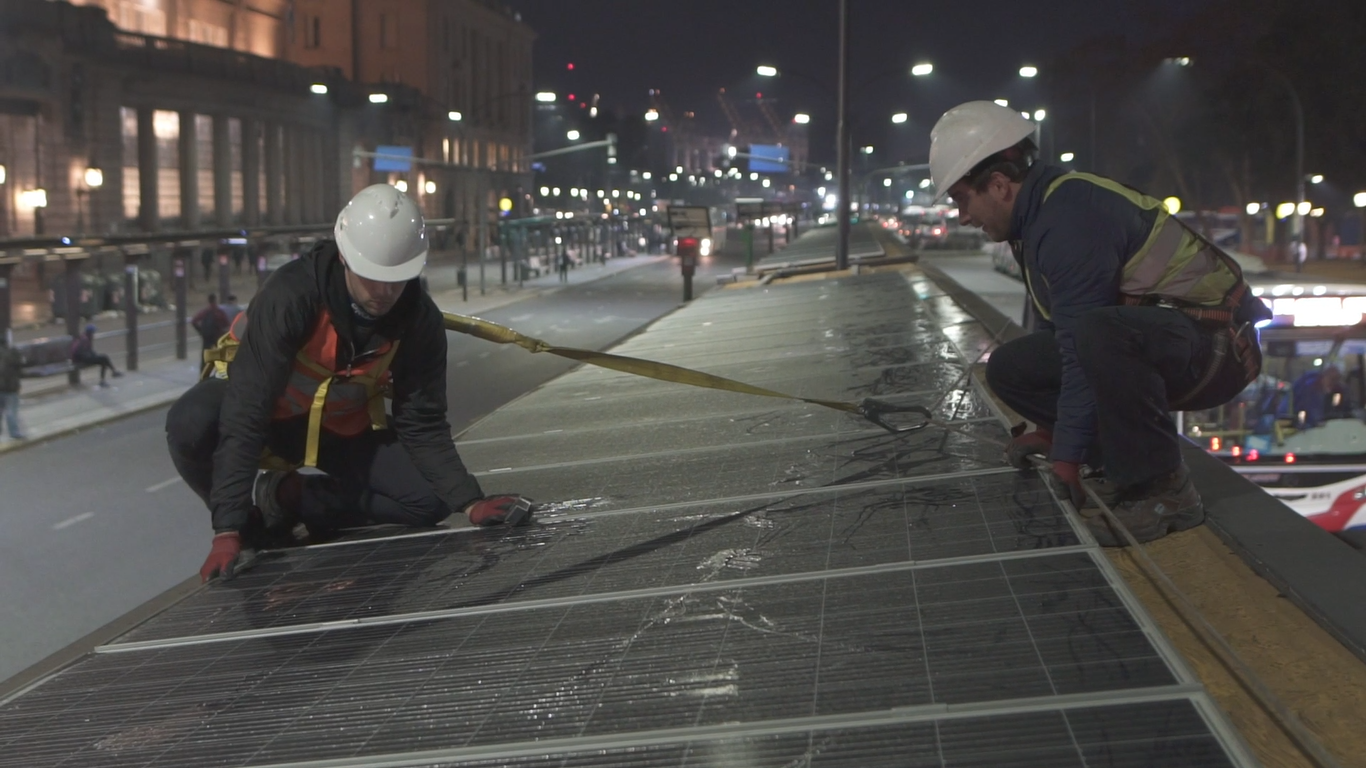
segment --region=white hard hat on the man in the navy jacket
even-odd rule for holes
[[[930,178],[934,201],[978,163],[1034,134],[1034,123],[994,101],[968,101],[944,112],[930,131]]]

